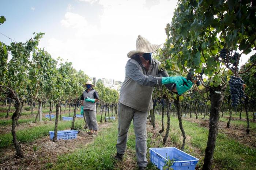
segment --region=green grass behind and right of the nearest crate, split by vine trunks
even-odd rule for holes
[[[161,115],[157,115],[156,119],[160,123]],[[198,124],[185,120],[182,120],[182,124],[186,135],[191,136],[192,146],[199,148],[201,156],[204,155],[208,138],[208,129],[199,127]],[[177,136],[178,138],[181,136],[177,117],[171,116],[170,130],[170,138],[172,141],[174,143],[181,143],[181,141],[177,142]],[[191,150],[188,145],[185,146],[185,151],[196,157],[200,156],[195,155],[195,151],[193,149]],[[221,164],[223,169],[252,169],[253,167],[256,167],[256,149],[240,144],[225,134],[218,133],[214,151],[214,162],[215,165]],[[200,160],[199,165],[201,163],[202,160]]]

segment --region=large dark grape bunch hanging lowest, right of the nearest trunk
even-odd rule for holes
[[[242,98],[245,98],[244,90],[243,90],[244,81],[235,76],[231,76],[229,80],[230,86],[230,94],[231,94],[231,106],[237,107]],[[244,103],[242,101],[242,103]]]

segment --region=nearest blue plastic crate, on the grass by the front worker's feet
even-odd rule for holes
[[[172,168],[174,170],[195,170],[199,159],[183,152],[176,147],[149,148],[150,162],[154,163],[158,169],[163,170],[168,159],[173,160]]]

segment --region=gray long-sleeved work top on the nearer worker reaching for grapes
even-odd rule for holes
[[[151,59],[148,70],[142,65],[138,55],[129,59],[125,66],[125,80],[121,86],[119,102],[142,112],[152,109],[154,87],[161,88],[161,77],[167,76],[156,59]],[[172,90],[174,85],[167,84],[166,87]]]

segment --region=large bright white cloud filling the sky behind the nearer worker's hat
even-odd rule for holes
[[[177,3],[168,0],[84,1],[91,3],[92,9],[96,5],[93,3],[103,7],[99,26],[89,23],[86,18],[91,16],[67,12],[60,22],[66,32],[61,38],[49,39],[46,50],[54,58],[68,59],[75,69],[82,69],[90,77],[120,81],[125,77],[127,53],[136,49],[139,34],[151,43],[165,42],[164,29],[171,22]]]

